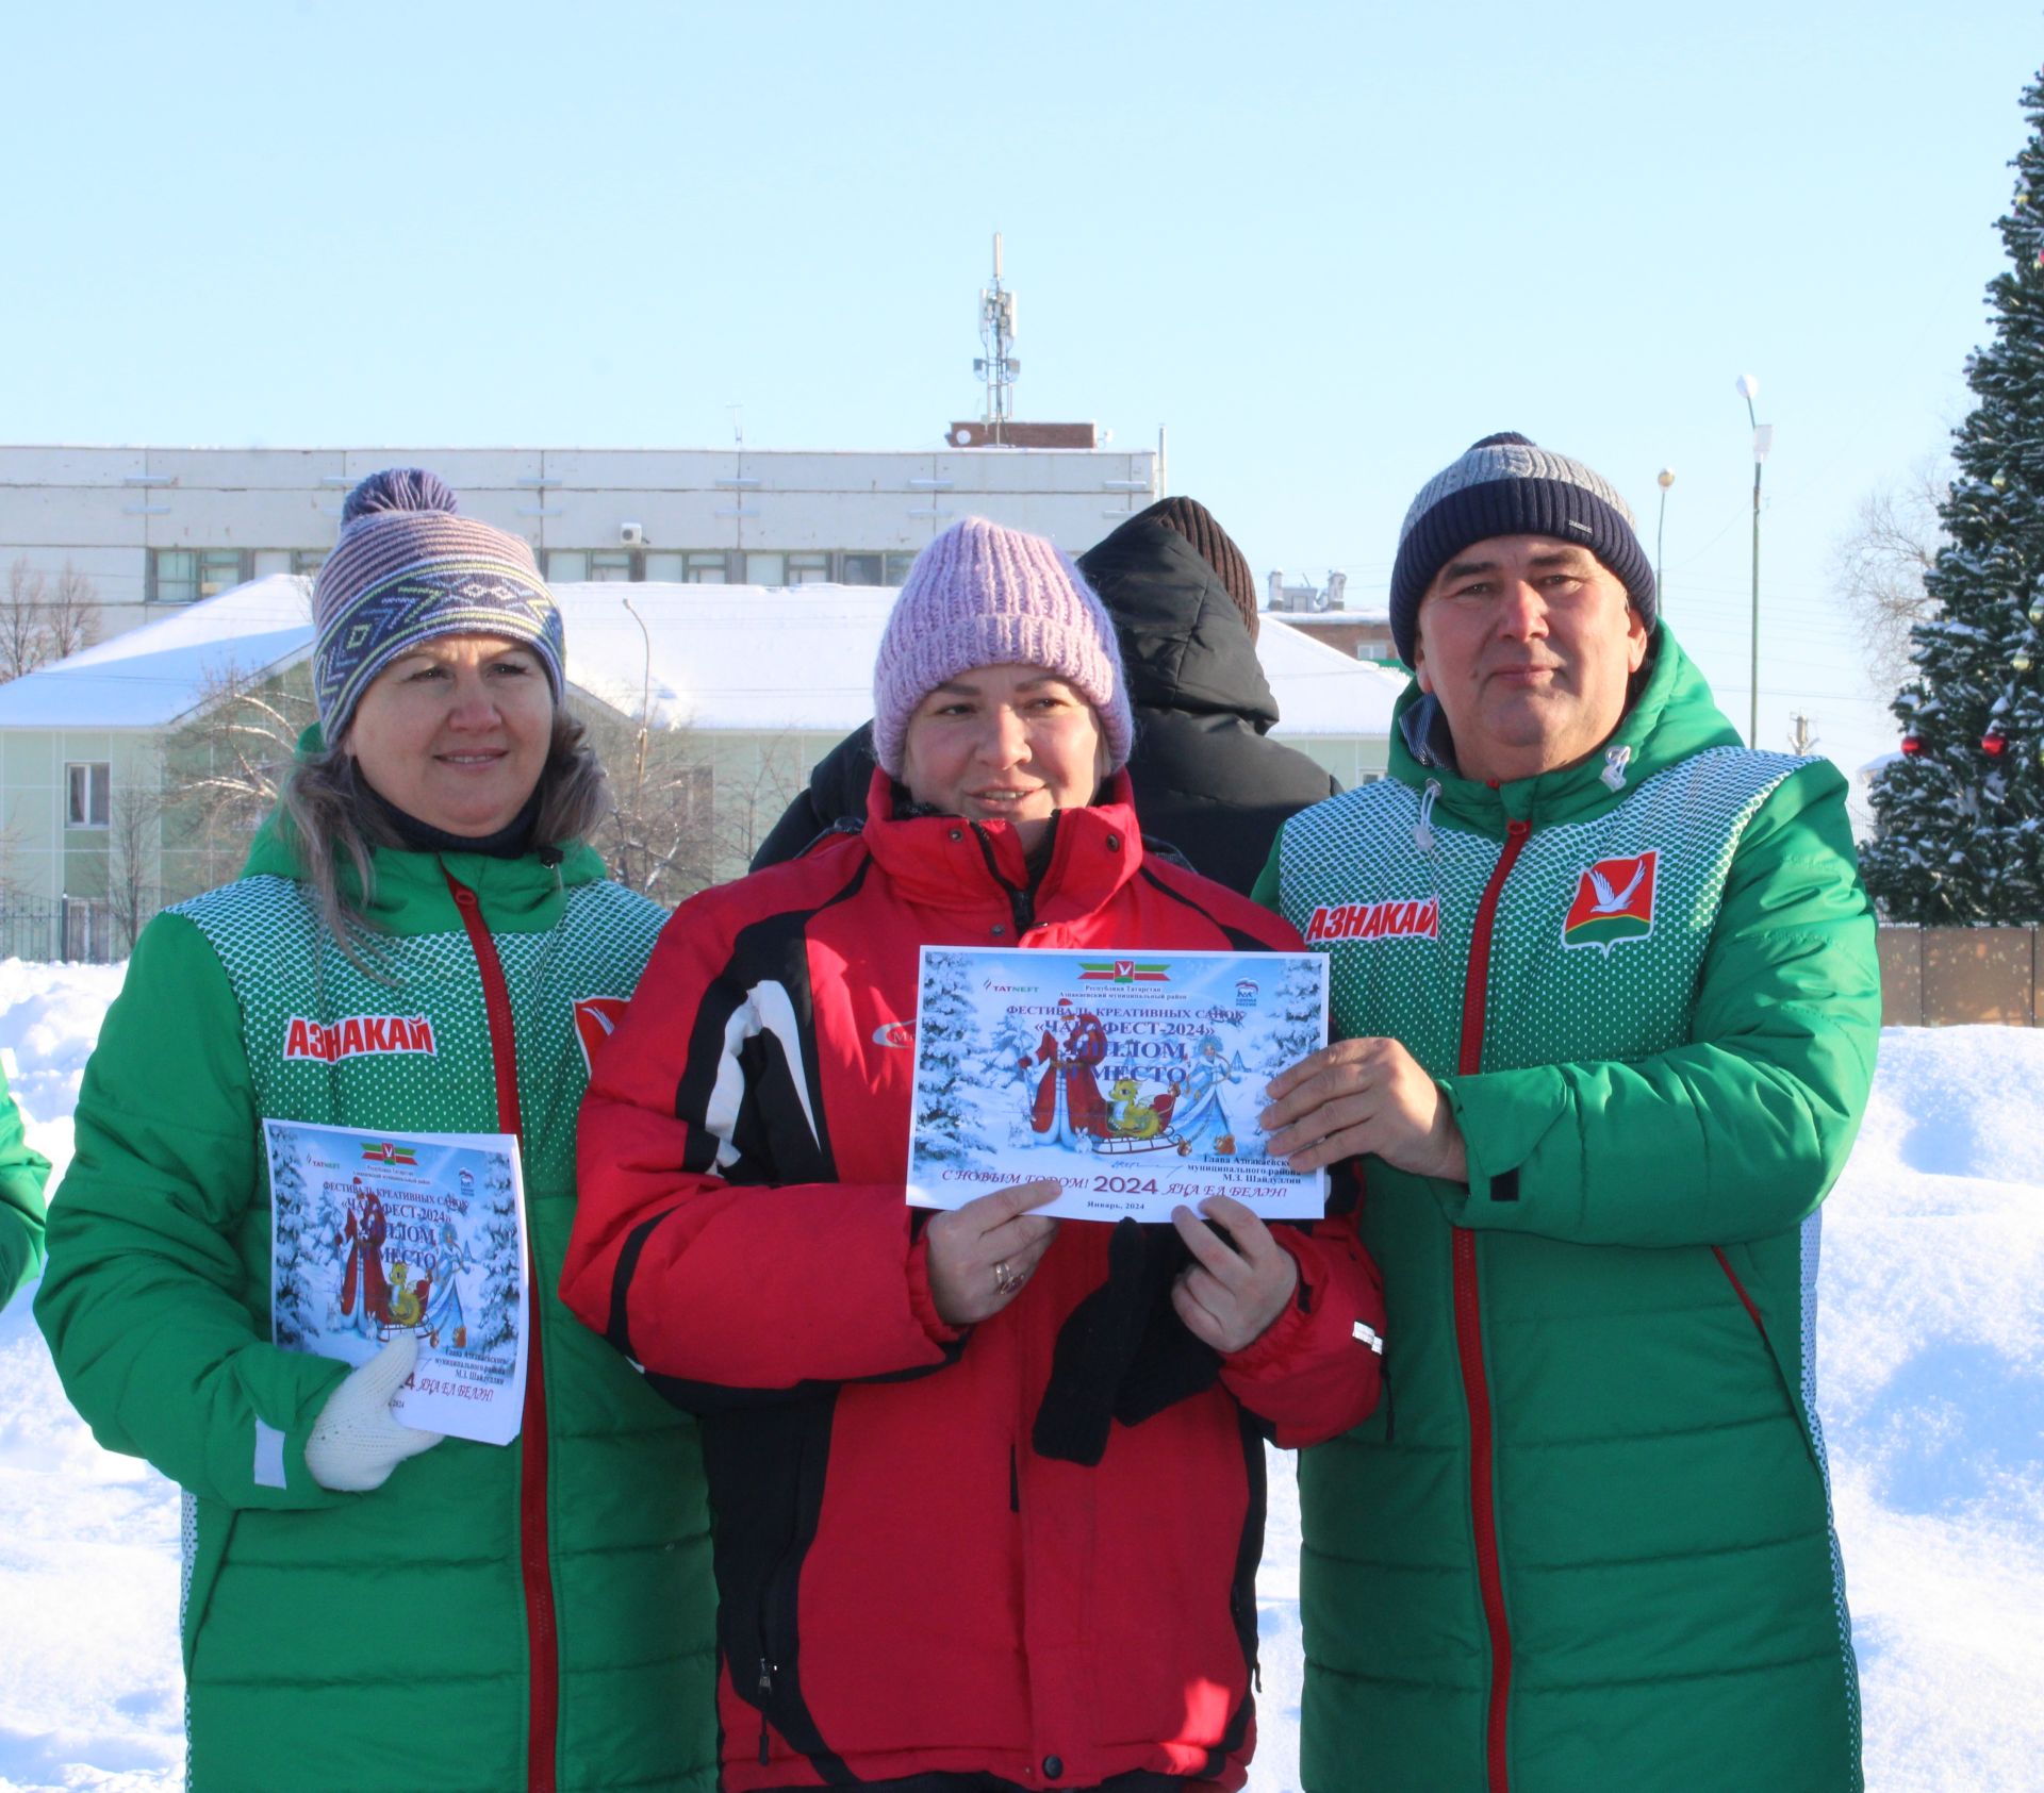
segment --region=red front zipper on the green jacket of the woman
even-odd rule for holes
[[[517,1037],[511,1031],[511,988],[497,958],[497,941],[482,925],[476,892],[446,874],[468,943],[482,974],[482,1011],[491,1025],[491,1066],[497,1074],[497,1131],[523,1137],[517,1105]],[[554,1746],[560,1730],[560,1638],[554,1630],[554,1577],[546,1548],[546,1376],[540,1364],[540,1270],[525,1240],[525,1285],[533,1291],[531,1340],[525,1354],[525,1413],[519,1423],[519,1572],[525,1583],[525,1648],[529,1681],[525,1703],[525,1787],[554,1793]]]

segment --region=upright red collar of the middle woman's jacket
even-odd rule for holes
[[[1108,780],[1106,796],[1053,819],[1051,862],[1030,892],[1022,843],[1006,821],[957,815],[895,815],[895,784],[873,774],[863,839],[889,882],[924,909],[985,911],[1030,894],[1036,923],[1077,921],[1108,903],[1143,864],[1128,774]]]

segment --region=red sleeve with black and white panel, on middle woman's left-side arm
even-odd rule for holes
[[[762,956],[758,878],[668,921],[597,1054],[562,1299],[687,1407],[957,1354],[899,1184],[828,1180],[807,956]]]

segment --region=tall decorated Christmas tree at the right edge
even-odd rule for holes
[[[2024,90],[2030,141],[2001,216],[2009,270],[1987,288],[1993,341],[1966,364],[1923,578],[1915,676],[1895,698],[1903,756],[1874,784],[1860,854],[1891,921],[2044,921],[2044,74]]]

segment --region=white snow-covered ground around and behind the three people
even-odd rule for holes
[[[59,1166],[119,970],[0,962]],[[1872,1793],[2044,1785],[2044,1031],[1891,1029],[1825,1209],[1823,1413]],[[1273,1458],[1255,1793],[1298,1785],[1298,1503]],[[0,1315],[0,1793],[180,1785],[178,1497],[92,1444]]]

